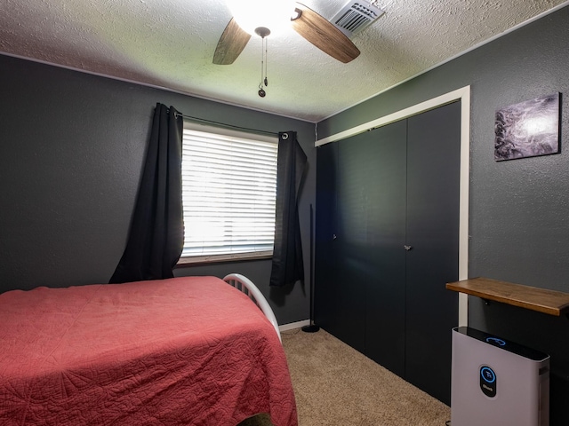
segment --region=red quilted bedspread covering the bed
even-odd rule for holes
[[[297,424],[274,328],[213,277],[0,295],[0,424]]]

